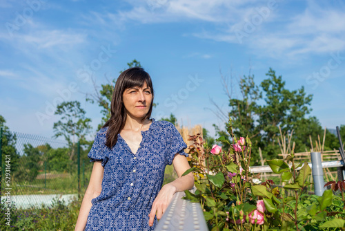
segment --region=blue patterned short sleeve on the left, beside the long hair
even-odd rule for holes
[[[96,134],[95,141],[88,153],[88,158],[90,158],[90,162],[101,161],[101,165],[104,167],[108,162],[106,153],[106,130],[102,128]]]

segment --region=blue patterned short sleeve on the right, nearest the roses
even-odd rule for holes
[[[170,122],[168,122],[167,124],[166,137],[168,143],[166,147],[166,165],[172,164],[172,160],[174,159],[176,154],[188,157],[188,154],[184,152],[184,149],[186,149],[187,147],[184,139],[182,138],[179,131],[177,131],[174,124]]]

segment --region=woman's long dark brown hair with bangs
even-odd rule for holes
[[[117,143],[117,135],[124,128],[126,123],[126,108],[122,100],[122,95],[126,89],[139,86],[144,86],[144,83],[151,89],[152,102],[153,102],[153,87],[150,75],[141,67],[132,67],[122,72],[116,80],[114,92],[112,93],[112,100],[110,105],[110,119],[103,125],[108,127],[106,135],[106,146],[110,149]],[[150,118],[152,113],[152,103],[148,113],[142,118]]]

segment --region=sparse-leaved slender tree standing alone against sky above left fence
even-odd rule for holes
[[[88,143],[85,136],[90,132],[91,119],[86,118],[85,114],[78,101],[62,102],[55,111],[55,115],[61,115],[59,122],[54,123],[55,137],[63,136],[72,147],[70,160],[74,156],[77,140],[80,140],[81,144]]]

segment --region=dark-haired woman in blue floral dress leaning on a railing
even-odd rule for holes
[[[143,68],[119,75],[111,116],[97,132],[94,162],[75,230],[154,230],[175,192],[190,190],[187,147],[175,126],[150,120],[153,88]],[[161,187],[166,165],[179,178]]]

